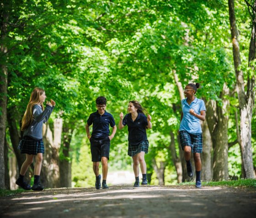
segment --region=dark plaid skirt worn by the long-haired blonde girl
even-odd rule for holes
[[[19,143],[18,149],[21,150],[21,154],[37,155],[37,153],[44,153],[43,140],[24,136]]]

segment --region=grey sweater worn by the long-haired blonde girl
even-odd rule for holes
[[[39,105],[34,105],[32,108],[33,121],[24,131],[23,136],[29,136],[40,140],[43,138],[43,123],[46,123],[53,112],[54,106],[46,105],[45,110]]]

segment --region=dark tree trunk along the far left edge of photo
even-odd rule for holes
[[[3,5],[1,5],[3,7]],[[0,14],[0,189],[5,189],[5,132],[6,132],[6,111],[7,111],[7,47],[3,44],[7,34],[8,16],[5,10]]]

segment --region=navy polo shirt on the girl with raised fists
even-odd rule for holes
[[[123,118],[123,126],[128,126],[128,142],[129,144],[139,144],[147,140],[146,126],[148,126],[147,117],[143,113],[138,113],[138,117],[132,119],[132,114],[128,113]]]

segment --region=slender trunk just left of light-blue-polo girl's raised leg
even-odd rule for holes
[[[178,157],[176,154],[175,137],[172,131],[170,132],[170,136],[171,136],[171,142],[170,142],[169,149],[171,150],[171,158],[176,168],[178,183],[181,183],[182,182],[182,165],[181,165],[180,157]]]

